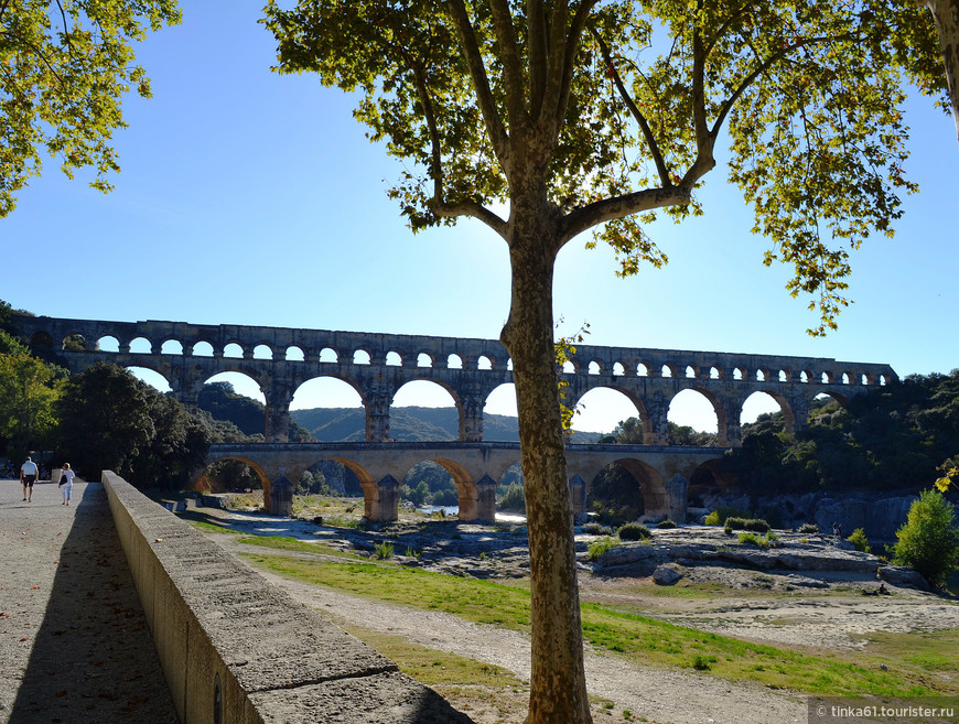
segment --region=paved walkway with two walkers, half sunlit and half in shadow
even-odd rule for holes
[[[0,724],[175,724],[106,493],[0,480]]]

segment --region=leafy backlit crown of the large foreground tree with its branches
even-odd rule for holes
[[[596,227],[588,246],[633,274],[667,260],[644,227],[700,212],[728,141],[765,262],[793,266],[813,334],[848,303],[849,251],[892,234],[915,190],[904,79],[944,91],[931,20],[887,0],[270,0],[265,22],[279,72],[357,94],[370,140],[405,162],[390,193],[414,230],[474,216],[508,240],[495,209],[532,175],[557,249]]]

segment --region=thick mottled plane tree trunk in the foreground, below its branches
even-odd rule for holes
[[[511,206],[513,302],[502,339],[513,358],[532,592],[527,724],[591,722],[583,670],[572,506],[553,349],[556,215],[546,202]]]

